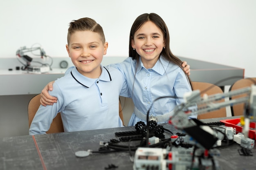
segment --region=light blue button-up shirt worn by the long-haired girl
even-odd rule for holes
[[[137,70],[136,65],[137,62],[128,57],[124,62],[111,66],[123,73],[128,84],[128,89],[120,95],[131,97],[135,107],[145,115],[148,110],[152,116],[171,112],[175,106],[184,102],[184,93],[191,91],[182,68],[162,57],[153,68],[145,68],[141,60]],[[132,113],[128,126],[135,126],[138,121],[142,120]]]

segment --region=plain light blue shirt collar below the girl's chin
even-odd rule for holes
[[[141,68],[138,69],[137,73],[139,73],[141,71],[141,69],[144,68],[146,70],[153,70],[160,75],[164,75],[168,64],[169,64],[169,61],[165,60],[164,57],[161,55],[159,57],[159,60],[157,60],[157,62],[153,66],[153,68],[147,69],[144,67],[143,63],[141,62],[141,57],[139,57],[139,65],[141,66]]]

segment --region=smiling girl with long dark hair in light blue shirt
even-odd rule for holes
[[[167,122],[183,95],[191,91],[191,81],[182,68],[182,61],[170,50],[168,28],[155,13],[136,18],[130,30],[129,56],[124,62],[111,64],[124,75],[128,89],[121,96],[130,97],[135,109],[128,126],[146,122],[146,115],[158,123]],[[68,72],[68,71],[67,71]],[[49,96],[50,82],[41,93],[41,104],[55,102]],[[165,97],[169,96],[169,97]],[[164,97],[161,100],[156,100]]]

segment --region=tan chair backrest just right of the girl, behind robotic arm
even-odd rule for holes
[[[193,90],[200,90],[201,97],[204,94],[207,95],[214,95],[217,93],[223,93],[222,89],[219,86],[216,86],[211,83],[207,82],[192,82]],[[222,99],[220,102],[224,102],[225,100]],[[210,118],[217,118],[217,117],[227,117],[226,108],[220,108],[218,110],[211,111],[209,113],[198,115],[198,119],[210,119]]]

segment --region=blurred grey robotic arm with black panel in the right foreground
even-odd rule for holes
[[[247,94],[246,97],[231,99],[229,101],[220,102],[220,99],[241,94]],[[256,85],[251,87],[238,89],[224,94],[215,94],[200,97],[200,91],[192,91],[184,96],[185,103],[177,106],[170,123],[176,128],[186,131],[191,137],[196,139],[204,148],[211,148],[218,140],[213,130],[203,126],[202,122],[197,119],[188,119],[191,115],[200,115],[213,110],[218,110],[225,106],[233,106],[235,104],[245,103],[244,112],[244,128],[243,133],[248,137],[250,121],[256,122]],[[197,106],[197,109],[191,106]],[[204,136],[204,137],[202,137]],[[206,141],[207,140],[207,141]]]

